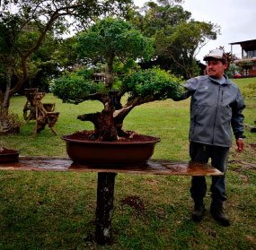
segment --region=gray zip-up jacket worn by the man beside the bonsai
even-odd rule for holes
[[[237,85],[225,79],[220,84],[205,75],[184,83],[187,91],[181,99],[191,96],[190,142],[230,147],[230,125],[235,138],[243,138],[243,97]]]

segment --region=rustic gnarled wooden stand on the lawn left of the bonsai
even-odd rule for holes
[[[27,101],[23,108],[23,117],[26,124],[31,120],[36,121],[33,136],[36,136],[46,125],[49,125],[51,131],[57,135],[54,126],[57,123],[59,112],[54,112],[55,103],[42,103],[41,99],[45,93],[39,92],[38,88],[26,89],[25,96]]]

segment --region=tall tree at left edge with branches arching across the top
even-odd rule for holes
[[[0,115],[6,116],[10,98],[14,93],[20,90],[22,84],[29,77],[28,62],[30,56],[41,46],[49,30],[54,30],[55,34],[62,34],[70,28],[71,24],[81,29],[84,25],[92,22],[95,17],[104,13],[124,12],[129,6],[129,0],[11,0],[1,2],[0,22],[1,29],[7,30],[4,33],[4,46],[8,56],[7,72],[4,77],[6,83],[4,88],[0,89]],[[14,13],[11,12],[14,10]],[[67,16],[74,19],[72,22],[66,20]],[[31,27],[31,23],[36,27]],[[31,35],[28,44],[22,43],[22,35],[27,33]],[[31,31],[31,32],[30,32]],[[25,46],[25,47],[24,47]],[[3,47],[4,48],[4,47]],[[4,49],[1,48],[1,52]],[[15,65],[15,67],[14,67]],[[17,82],[11,87],[13,69],[20,69],[17,73]]]

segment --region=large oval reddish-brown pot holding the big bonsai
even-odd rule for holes
[[[75,163],[91,167],[139,166],[154,153],[154,145],[160,138],[143,135],[143,142],[94,142],[72,139],[72,134],[63,135],[68,156]]]

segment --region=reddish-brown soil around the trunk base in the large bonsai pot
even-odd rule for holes
[[[137,134],[136,132],[133,131],[127,131],[129,134],[129,137],[119,137],[119,140],[117,141],[111,141],[111,142],[154,142],[155,137],[153,136],[148,136],[144,134]],[[66,136],[66,138],[71,139],[71,140],[78,140],[78,141],[91,141],[94,142],[94,131],[93,130],[84,130],[82,132],[75,132],[74,134],[69,134]]]

